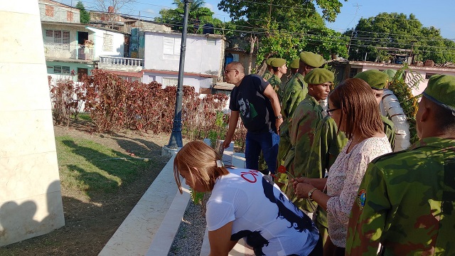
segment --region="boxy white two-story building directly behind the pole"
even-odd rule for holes
[[[156,81],[164,87],[178,82],[181,33],[144,32],[144,74],[142,82]],[[225,38],[220,35],[188,34],[183,85],[196,92],[210,93],[223,70]]]

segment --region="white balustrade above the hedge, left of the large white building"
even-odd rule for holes
[[[139,72],[144,67],[144,59],[121,58],[100,55],[98,68],[104,70],[119,70],[127,72]]]

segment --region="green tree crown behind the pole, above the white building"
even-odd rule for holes
[[[183,0],[173,0],[176,9],[161,9],[159,14],[160,18],[155,21],[169,24],[174,31],[183,30],[183,14],[184,3]],[[218,18],[213,18],[213,11],[204,7],[203,0],[194,0],[188,4],[188,32],[189,33],[203,33],[203,25],[211,23],[215,28],[222,26],[222,21]],[[219,32],[218,32],[219,33]]]

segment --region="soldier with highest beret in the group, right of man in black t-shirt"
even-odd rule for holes
[[[292,115],[296,110],[299,103],[304,100],[308,88],[304,82],[304,76],[314,68],[323,65],[324,59],[321,55],[310,52],[301,52],[299,55],[299,73],[294,75],[289,84],[284,90],[282,98],[282,117],[283,124],[279,127],[279,146],[277,164],[283,165],[288,151],[291,149],[291,142],[289,138],[289,127],[291,124]],[[284,176],[279,177],[278,183],[283,183]]]

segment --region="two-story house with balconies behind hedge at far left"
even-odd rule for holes
[[[125,41],[129,41],[129,33],[82,24],[78,9],[57,1],[39,0],[38,4],[46,66],[52,78],[79,80],[100,62],[107,66],[127,62],[123,57],[128,55]]]

